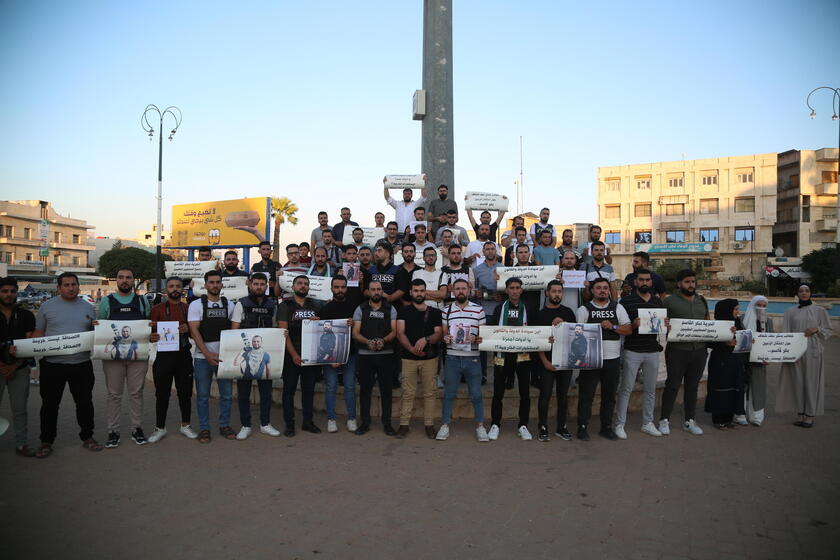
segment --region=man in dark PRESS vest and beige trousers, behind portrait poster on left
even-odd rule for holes
[[[137,321],[148,319],[151,310],[149,300],[134,293],[134,272],[128,268],[117,270],[117,292],[109,294],[99,303],[100,321]],[[148,443],[141,426],[143,422],[143,386],[149,360],[123,359],[102,360],[105,371],[105,386],[108,388],[106,411],[108,415],[108,439],[105,447],[114,448],[120,444],[120,416],[122,415],[123,393],[128,392],[128,414],[131,421],[131,439],[137,445]]]

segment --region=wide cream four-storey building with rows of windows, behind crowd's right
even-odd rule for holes
[[[651,258],[719,253],[734,282],[762,280],[776,221],[775,153],[598,168],[601,239],[616,272]]]

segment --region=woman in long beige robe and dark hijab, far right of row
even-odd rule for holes
[[[782,364],[776,410],[796,412],[794,426],[811,428],[814,417],[823,414],[825,361],[823,343],[831,336],[828,312],[811,302],[811,288],[799,286],[799,305],[785,311],[782,332],[805,333],[808,349],[793,363]]]

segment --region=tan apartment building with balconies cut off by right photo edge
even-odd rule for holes
[[[788,150],[778,158],[773,246],[802,257],[837,242],[837,148]]]

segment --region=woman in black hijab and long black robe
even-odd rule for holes
[[[739,318],[737,299],[723,299],[715,305],[715,321],[735,321],[736,330],[744,330]],[[735,415],[744,414],[744,354],[733,354],[735,336],[726,342],[709,344],[709,380],[707,383],[706,412],[712,413],[715,428],[726,430],[735,427]]]

